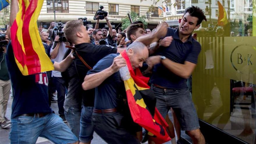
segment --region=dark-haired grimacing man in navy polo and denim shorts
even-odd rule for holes
[[[200,8],[187,8],[179,28],[168,28],[166,37],[173,37],[170,46],[159,49],[157,56],[147,60],[149,65],[154,65],[150,82],[157,97],[157,109],[166,117],[173,108],[181,129],[188,132],[193,143],[205,143],[205,139],[199,129],[186,79],[195,69],[201,51],[201,45],[192,38],[192,32],[200,27],[203,19],[207,20]]]

